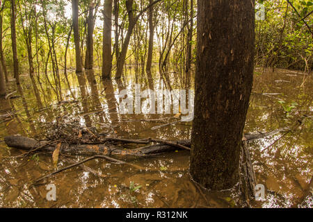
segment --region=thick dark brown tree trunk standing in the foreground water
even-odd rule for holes
[[[198,53],[191,176],[209,189],[239,181],[252,89],[254,1],[198,0]]]

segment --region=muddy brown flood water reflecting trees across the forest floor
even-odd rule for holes
[[[136,75],[129,71],[122,85],[114,80],[102,84],[95,73],[98,84],[86,80],[85,87],[79,87],[76,76],[70,74],[71,89],[63,83],[62,103],[58,103],[56,91],[45,83],[38,85],[39,101],[27,76],[22,77],[22,89],[17,90],[14,82],[9,84],[9,91],[17,92],[12,95],[16,97],[0,101],[0,207],[241,207],[235,190],[207,191],[194,184],[188,173],[188,151],[117,157],[145,170],[92,160],[84,166],[97,173],[74,167],[29,187],[31,181],[55,170],[51,154],[16,158],[23,151],[8,148],[3,138],[19,134],[42,139],[47,134],[47,124],[60,118],[118,137],[190,138],[190,122],[152,129],[175,121],[175,114],[118,112],[117,93],[134,90],[137,82],[146,89],[147,80],[136,81]],[[171,73],[170,77],[172,89],[180,89],[183,81],[179,74]],[[308,189],[313,171],[312,86],[312,76],[301,71],[255,71],[245,133],[292,127],[303,115],[308,117],[290,133],[249,144],[257,183],[266,188],[265,200],[253,202],[252,207],[294,207]],[[154,80],[155,89],[164,87],[166,83],[160,78]],[[7,115],[13,112],[15,115]],[[61,169],[71,164],[70,160],[83,158],[61,155],[57,167]],[[56,201],[46,199],[48,184],[56,185]],[[141,187],[134,191],[129,189],[130,184]],[[312,207],[312,202],[309,200],[306,206]]]

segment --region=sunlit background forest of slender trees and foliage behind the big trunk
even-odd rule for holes
[[[255,64],[310,71],[312,1],[258,2],[264,3],[265,20],[256,21]],[[1,1],[0,60],[6,81],[14,70],[28,73],[35,93],[41,90],[35,85],[47,83],[61,101],[63,78],[69,85],[67,69],[103,68],[102,76],[124,78],[125,64],[131,63],[137,77],[150,79],[159,69],[165,83],[172,71],[183,77],[179,85],[189,84],[197,1],[75,0],[75,4],[74,27],[70,1]]]

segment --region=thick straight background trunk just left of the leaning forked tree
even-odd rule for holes
[[[104,1],[102,78],[111,78],[112,69],[112,0]],[[118,42],[115,42],[118,44]]]

